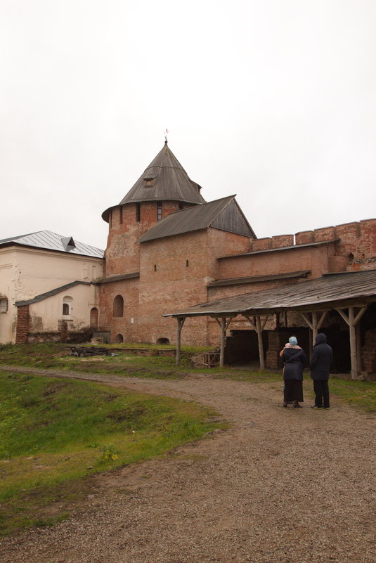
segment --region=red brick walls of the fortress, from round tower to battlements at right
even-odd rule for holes
[[[188,206],[187,206],[188,207]],[[178,202],[163,202],[166,216],[179,209]],[[263,276],[297,270],[311,270],[312,278],[328,271],[376,268],[376,220],[370,219],[339,226],[297,233],[297,244],[340,238],[338,243],[318,247],[295,247],[280,252],[266,252],[247,257],[217,260],[249,250],[265,250],[291,246],[293,235],[250,240],[241,235],[209,228],[163,239],[135,243],[142,233],[157,221],[157,203],[141,204],[141,222],[136,222],[136,205],[123,207],[123,222],[119,224],[119,209],[115,209],[107,250],[107,275],[140,271],[140,279],[122,280],[101,287],[99,325],[111,331],[114,341],[122,334],[125,342],[156,342],[168,338],[176,342],[176,321],[164,318],[164,313],[184,309],[193,304],[221,297],[241,295],[304,280],[275,280],[257,284],[207,288],[212,280],[245,276]],[[112,316],[116,295],[124,298],[122,318]],[[131,318],[134,323],[131,323]],[[273,330],[274,318],[266,328]],[[250,328],[238,318],[231,328]],[[210,318],[187,319],[182,343],[219,344],[219,327]]]

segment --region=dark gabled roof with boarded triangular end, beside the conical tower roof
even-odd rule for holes
[[[156,238],[200,231],[208,227],[218,228],[221,231],[228,231],[249,238],[256,238],[238,203],[235,201],[235,195],[228,195],[227,198],[221,198],[220,200],[214,200],[171,213],[146,231],[138,239],[138,242],[147,242]]]

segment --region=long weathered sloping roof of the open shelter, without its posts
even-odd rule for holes
[[[275,313],[287,309],[330,309],[341,301],[376,301],[376,270],[344,272],[197,304],[164,316],[237,315]]]

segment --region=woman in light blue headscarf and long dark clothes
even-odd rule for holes
[[[299,402],[303,402],[303,369],[307,363],[306,354],[300,346],[298,346],[297,337],[289,338],[288,344],[280,352],[280,356],[284,363],[283,380],[285,387],[283,389],[283,406],[286,408],[287,403],[294,403],[294,408],[302,408]]]

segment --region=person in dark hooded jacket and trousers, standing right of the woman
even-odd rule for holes
[[[326,335],[316,336],[311,359],[311,377],[315,391],[315,404],[311,408],[330,408],[329,404],[329,370],[333,362],[333,351],[326,343]]]

